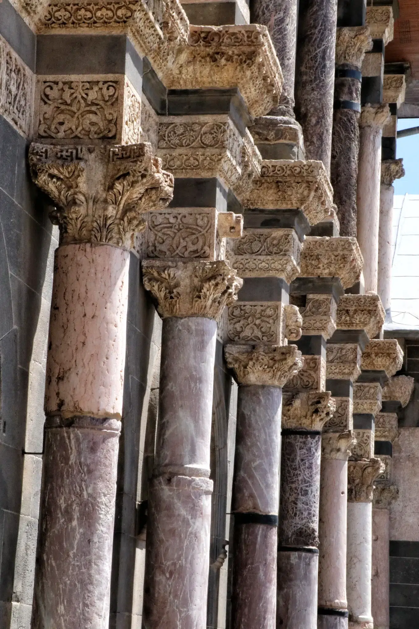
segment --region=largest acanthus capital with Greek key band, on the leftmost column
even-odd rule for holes
[[[91,242],[130,249],[146,224],[142,215],[173,197],[173,175],[150,144],[126,147],[32,143],[35,184],[57,205],[50,214],[62,244]]]

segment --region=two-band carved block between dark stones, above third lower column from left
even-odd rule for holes
[[[300,272],[301,248],[294,230],[246,229],[230,259],[240,277],[283,277],[291,284]]]

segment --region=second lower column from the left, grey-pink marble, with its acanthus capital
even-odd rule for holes
[[[217,319],[241,280],[224,261],[143,261],[163,318],[159,423],[148,501],[143,624],[204,629]]]

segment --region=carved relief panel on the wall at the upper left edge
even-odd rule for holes
[[[0,35],[0,115],[25,138],[31,133],[34,85],[31,70]]]

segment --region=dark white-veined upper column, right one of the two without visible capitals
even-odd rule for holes
[[[337,0],[300,0],[295,72],[295,117],[307,159],[330,174]]]

